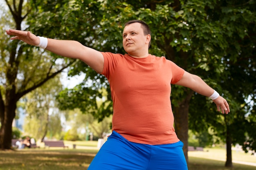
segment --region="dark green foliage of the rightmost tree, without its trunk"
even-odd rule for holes
[[[212,127],[215,130],[215,135],[218,135],[222,141],[226,140],[228,131],[233,144],[238,143],[243,146],[248,140],[250,149],[255,149],[253,147],[254,135],[248,133],[256,130],[256,126],[251,126],[249,123],[250,116],[248,117],[252,114],[249,110],[255,107],[255,102],[252,105],[246,103],[248,97],[253,101],[256,99],[256,86],[255,83],[252,83],[256,80],[256,63],[254,61],[256,54],[254,45],[256,42],[254,34],[256,31],[255,2],[216,2],[218,3],[213,8],[206,8],[209,14],[207,20],[211,21],[211,24],[220,23],[220,26],[222,25],[219,28],[221,35],[212,34],[222,37],[222,39],[216,37],[221,48],[217,49],[216,44],[214,44],[214,48],[211,48],[214,55],[219,55],[219,53],[222,55],[218,60],[202,59],[204,64],[200,67],[209,69],[209,71],[202,72],[203,74],[200,73],[200,75],[206,77],[209,84],[221,92],[221,95],[224,95],[223,97],[229,102],[231,113],[225,117],[216,115],[215,109],[208,105],[211,101],[206,100],[207,104],[204,102],[204,97],[195,94],[189,108],[189,119],[193,123],[189,126],[197,132]],[[252,4],[254,5],[252,6]],[[205,64],[207,62],[209,63]],[[215,67],[216,64],[220,64],[221,67]],[[216,72],[213,71],[214,68],[217,68]],[[212,84],[211,79],[215,79],[216,84]]]

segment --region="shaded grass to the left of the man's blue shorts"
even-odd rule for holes
[[[95,150],[0,151],[0,170],[87,170]]]

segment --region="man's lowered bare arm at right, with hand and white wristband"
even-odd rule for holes
[[[227,100],[218,95],[218,93],[216,93],[213,88],[208,86],[199,76],[185,71],[183,77],[176,84],[191,88],[193,91],[199,93],[200,95],[207,97],[215,95],[213,102],[216,104],[218,111],[221,111],[223,114],[228,114],[230,112]]]

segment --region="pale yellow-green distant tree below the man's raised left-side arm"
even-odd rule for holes
[[[56,108],[55,97],[61,90],[59,76],[56,76],[24,96],[27,113],[24,124],[25,133],[41,139],[42,142],[47,134],[49,138],[60,136],[61,112]]]

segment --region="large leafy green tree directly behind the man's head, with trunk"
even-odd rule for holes
[[[76,2],[79,4],[79,1]],[[95,32],[98,33],[96,42],[104,43],[96,49],[124,53],[120,36],[122,24],[132,19],[144,20],[152,31],[150,53],[164,55],[186,71],[200,75],[221,95],[225,94],[230,99],[228,89],[225,91],[226,88],[221,88],[224,84],[222,82],[230,86],[229,81],[221,79],[226,76],[224,71],[227,63],[223,62],[223,58],[229,62],[236,62],[239,58],[240,40],[247,38],[245,30],[252,23],[251,20],[254,20],[251,18],[254,3],[220,0],[141,0],[138,3],[108,0],[98,4],[101,20],[95,26]],[[95,16],[94,21],[97,20],[99,18]],[[88,77],[92,78],[95,86],[106,84],[106,80],[99,79],[98,76],[87,75]],[[172,91],[175,129],[184,142],[184,154],[187,158],[189,106],[195,93],[179,86],[173,86]],[[205,97],[204,104],[211,104],[211,109],[215,108]],[[200,112],[203,111],[200,109]]]

